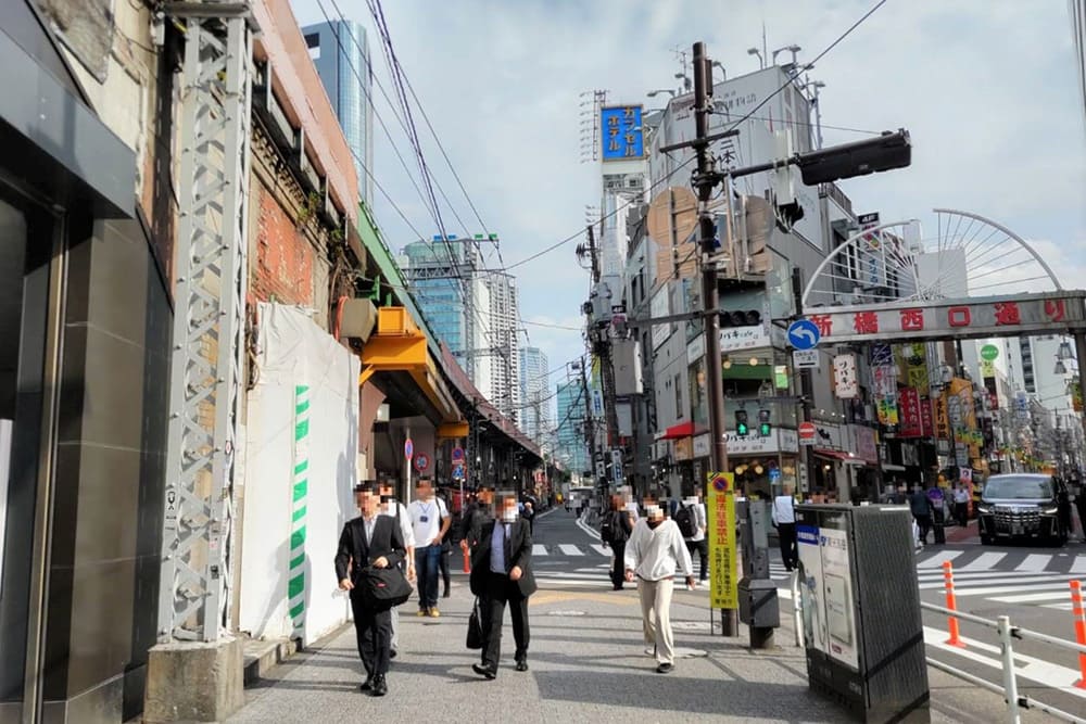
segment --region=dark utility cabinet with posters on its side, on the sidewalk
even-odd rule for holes
[[[796,506],[810,687],[862,722],[930,722],[909,510]]]

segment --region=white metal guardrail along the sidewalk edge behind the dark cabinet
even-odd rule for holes
[[[799,573],[798,571],[793,572],[791,579],[792,588],[792,614],[793,623],[795,628],[796,646],[801,647],[804,645],[804,620],[803,620],[803,605],[799,596]],[[1010,724],[1019,724],[1021,721],[1020,714],[1023,709],[1036,709],[1043,711],[1046,714],[1057,716],[1065,722],[1071,722],[1072,724],[1086,724],[1086,719],[1073,714],[1071,712],[1063,711],[1051,704],[1047,704],[1043,701],[1038,701],[1031,696],[1021,695],[1018,690],[1018,676],[1014,673],[1014,646],[1013,642],[1015,638],[1020,640],[1032,639],[1043,644],[1049,644],[1059,648],[1064,648],[1070,651],[1076,651],[1079,655],[1086,655],[1086,645],[1075,644],[1072,642],[1064,640],[1062,638],[1057,638],[1056,636],[1049,636],[1048,634],[1043,634],[1037,631],[1030,631],[1028,628],[1020,628],[1014,626],[1010,622],[1010,618],[1001,615],[995,621],[990,619],[984,619],[978,615],[973,615],[972,613],[963,613],[962,611],[951,610],[949,608],[944,608],[942,606],[936,606],[935,604],[927,604],[925,601],[920,602],[920,608],[925,611],[933,611],[935,613],[942,613],[944,615],[961,619],[962,621],[969,621],[971,623],[985,626],[987,628],[995,628],[999,637],[999,648],[1000,648],[1000,670],[1002,672],[1003,683],[1002,686],[998,684],[993,684],[992,682],[975,676],[965,671],[951,666],[949,664],[943,663],[931,657],[925,657],[927,665],[932,669],[936,669],[944,673],[950,674],[951,676],[957,676],[962,681],[969,682],[975,686],[980,686],[983,689],[993,691],[995,694],[1003,697],[1003,701],[1007,702],[1007,719],[1005,721]]]

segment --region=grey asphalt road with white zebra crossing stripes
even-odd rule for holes
[[[578,524],[572,513],[558,510],[536,524],[534,564],[541,587],[555,589],[606,590],[609,556],[599,541]],[[782,595],[782,619],[788,618],[788,580],[776,549],[771,551],[773,576]],[[995,620],[1007,615],[1019,627],[1037,631],[1063,640],[1074,640],[1069,582],[1077,579],[1086,587],[1086,545],[1068,543],[1061,548],[1036,544],[982,546],[975,536],[964,541],[929,545],[917,554],[917,576],[921,600],[946,606],[943,560],[956,572],[958,609]],[[695,568],[697,561],[694,561]],[[708,608],[708,593],[693,594]],[[994,628],[961,622],[964,648],[947,646],[947,618],[924,613],[929,656],[955,669],[1001,685],[998,637]],[[790,628],[791,631],[791,628]],[[788,634],[791,636],[791,634]],[[778,643],[790,645],[791,640]],[[1014,643],[1019,663],[1020,695],[1036,698],[1068,712],[1086,716],[1086,689],[1075,688],[1079,679],[1077,656],[1035,640]],[[935,677],[934,670],[930,676]],[[961,686],[977,688],[957,679]]]

